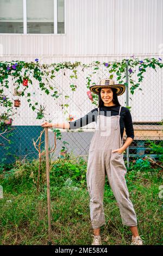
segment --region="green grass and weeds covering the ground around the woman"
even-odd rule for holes
[[[60,164],[59,164],[59,161]],[[93,230],[90,222],[89,193],[86,188],[86,162],[74,170],[73,161],[58,160],[66,172],[59,175],[51,170],[51,215],[53,245],[91,245]],[[37,162],[15,167],[16,175],[1,179],[4,195],[0,200],[0,245],[47,245],[48,222],[46,185],[36,196],[35,173]],[[67,165],[66,165],[67,166]],[[76,162],[77,167],[77,162]],[[24,172],[22,171],[24,170]],[[73,172],[72,172],[73,170]],[[33,175],[31,174],[33,172]],[[74,175],[74,172],[77,172]],[[19,174],[18,174],[19,173]],[[42,175],[43,176],[43,175]],[[63,181],[71,177],[69,184]],[[82,178],[81,178],[82,177]],[[139,234],[145,245],[162,245],[162,185],[160,169],[142,170],[134,166],[126,174],[130,200],[137,215]],[[103,245],[130,245],[131,231],[122,224],[120,210],[106,179],[104,192],[106,225],[101,227]]]

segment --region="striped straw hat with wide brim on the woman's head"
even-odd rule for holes
[[[92,93],[95,93],[97,95],[99,95],[99,88],[102,87],[110,87],[110,88],[116,88],[117,89],[117,96],[122,95],[125,90],[126,90],[126,86],[124,84],[115,84],[114,80],[112,79],[102,79],[99,82],[99,85],[94,85],[94,86],[90,86],[90,90]]]

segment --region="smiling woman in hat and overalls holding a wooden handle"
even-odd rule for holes
[[[129,199],[125,180],[127,169],[123,161],[123,151],[134,138],[129,109],[122,107],[117,99],[117,96],[125,92],[125,86],[115,84],[111,79],[103,79],[99,85],[91,86],[90,90],[98,95],[98,108],[73,122],[63,124],[44,122],[41,126],[77,129],[96,121],[96,131],[89,148],[86,172],[90,195],[90,218],[94,233],[92,245],[101,245],[100,227],[106,224],[103,210],[105,175],[108,176],[110,187],[120,208],[122,223],[129,226],[133,234],[131,245],[142,245],[142,239],[137,230],[136,214]],[[127,139],[123,144],[124,127]]]

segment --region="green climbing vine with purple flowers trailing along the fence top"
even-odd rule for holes
[[[23,84],[23,90],[20,95],[24,96],[26,93],[29,107],[32,108],[33,111],[37,111],[37,119],[42,119],[44,117],[43,111],[45,108],[41,105],[38,107],[37,105],[39,105],[39,102],[32,103],[31,95],[28,92],[28,88],[29,86],[33,85],[33,81],[39,82],[40,90],[45,92],[45,94],[52,96],[55,100],[59,97],[58,88],[52,86],[50,80],[55,79],[57,72],[64,70],[64,75],[66,75],[66,69],[72,70],[70,78],[74,81],[78,79],[79,67],[82,68],[83,72],[84,69],[91,68],[90,74],[85,77],[85,85],[89,89],[91,85],[97,83],[97,81],[93,80],[93,75],[96,74],[102,66],[108,70],[109,78],[112,79],[114,77],[118,83],[123,83],[128,86],[126,83],[126,59],[123,59],[121,62],[115,61],[108,63],[95,61],[91,64],[82,64],[81,62],[63,62],[41,65],[39,63],[39,59],[35,59],[35,62],[30,63],[19,60],[16,62],[0,62],[0,105],[6,108],[4,113],[0,113],[1,119],[4,117],[7,118],[13,114],[13,102],[8,95],[4,94],[4,88],[8,88],[10,90],[9,78],[14,81],[14,86],[17,93]],[[156,71],[157,67],[162,68],[162,66],[163,64],[161,63],[161,58],[145,58],[143,60],[139,60],[135,58],[134,55],[131,56],[131,58],[128,59],[129,84],[131,84],[130,93],[134,94],[134,91],[137,88],[142,90],[140,88],[140,84],[143,81],[143,75],[148,68],[152,68]],[[133,79],[134,74],[137,74],[137,81]],[[70,88],[72,91],[75,91],[77,86],[74,83],[70,83]],[[68,97],[68,95],[65,97]],[[92,94],[90,99],[92,100],[93,104],[97,104],[98,96],[96,94]],[[68,107],[68,104],[60,106],[64,108]]]

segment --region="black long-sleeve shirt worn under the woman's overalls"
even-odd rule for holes
[[[105,116],[108,116],[108,114],[106,113],[107,111],[111,111],[111,116],[118,115],[119,110],[120,110],[120,106],[117,106],[117,105],[111,106],[111,107],[103,106],[99,108],[100,114],[103,114]],[[89,113],[84,115],[84,117],[79,118],[75,121],[68,122],[70,123],[69,130],[78,129],[79,127],[90,124],[93,121],[97,122],[97,116],[98,116],[98,108],[94,108]],[[124,128],[126,130],[127,137],[134,139],[133,121],[131,118],[130,111],[127,107],[122,106],[121,112],[120,112],[121,138],[123,137]]]

